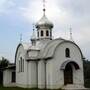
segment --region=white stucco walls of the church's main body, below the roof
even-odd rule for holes
[[[55,43],[57,43],[57,41],[51,43],[48,50],[53,49],[50,47],[56,45]],[[24,88],[62,88],[64,86],[64,72],[60,68],[65,61],[71,60],[75,61],[80,67],[79,70],[75,70],[73,67],[73,84],[83,86],[83,61],[80,50],[76,45],[70,42],[58,43],[55,47],[55,51],[54,49],[49,51],[49,53],[53,53],[52,51],[54,51],[53,58],[47,60],[45,64],[44,60],[26,61],[26,50],[21,45],[16,57],[16,85]],[[66,58],[65,56],[66,48],[70,49],[70,58]],[[29,56],[31,57],[32,54],[34,55],[34,52],[29,53]],[[24,59],[24,72],[19,72],[20,57]]]

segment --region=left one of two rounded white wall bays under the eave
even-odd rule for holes
[[[29,88],[37,88],[37,63],[35,61],[29,61],[27,63],[27,85]]]

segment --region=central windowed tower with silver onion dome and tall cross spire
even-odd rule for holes
[[[43,16],[36,23],[37,38],[40,39],[52,39],[53,23],[46,17],[45,0],[43,0]]]

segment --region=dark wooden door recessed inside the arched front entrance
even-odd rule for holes
[[[64,85],[73,84],[73,70],[70,63],[68,63],[64,70]]]

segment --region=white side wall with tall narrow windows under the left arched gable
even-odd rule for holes
[[[16,58],[16,85],[19,87],[27,87],[27,62],[25,60],[25,50],[22,46],[19,47]],[[24,72],[19,71],[20,57],[24,59]]]

